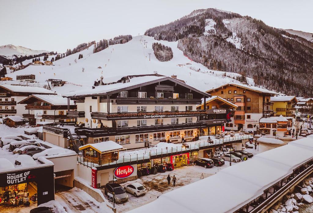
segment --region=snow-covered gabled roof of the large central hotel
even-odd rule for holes
[[[166,76],[142,76],[142,77],[134,77],[130,80],[130,82],[126,83],[115,83],[115,84],[109,84],[109,85],[101,85],[95,87],[95,89],[85,89],[85,90],[80,90],[80,91],[74,91],[74,92],[69,92],[64,94],[64,97],[75,97],[75,96],[93,96],[93,95],[104,95],[104,94],[112,94],[115,92],[119,92],[121,90],[127,90],[131,87],[136,87],[137,85],[149,85],[154,82],[160,82],[160,81],[165,81],[165,80],[170,80],[173,81],[177,84],[180,84],[182,86],[191,88],[192,90],[199,92],[203,95],[210,96],[209,94],[205,92],[201,92],[193,87],[188,86],[185,83],[182,83],[178,81],[177,79],[171,78],[171,77],[166,77]]]

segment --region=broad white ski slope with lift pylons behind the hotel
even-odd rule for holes
[[[55,61],[54,66],[31,65],[23,70],[9,73],[7,76],[15,80],[16,75],[35,74],[36,81],[40,83],[46,83],[47,79],[54,78],[91,87],[95,80],[100,79],[101,75],[104,77],[104,81],[107,78],[110,81],[117,81],[121,76],[157,72],[166,76],[177,75],[177,78],[202,91],[228,82],[238,82],[230,78],[239,76],[237,73],[226,72],[226,75],[230,77],[225,77],[225,72],[209,70],[202,64],[191,61],[177,48],[177,42],[156,41],[148,36],[143,36],[143,39],[148,42],[147,47],[140,41],[141,36],[136,36],[125,44],[111,45],[94,54],[92,53],[93,46],[91,46],[79,53]],[[161,42],[171,47],[173,59],[168,62],[158,61],[153,54],[153,42]],[[149,53],[152,53],[151,61],[149,61]],[[79,54],[83,54],[83,58],[78,59]],[[52,57],[50,56],[48,60]],[[75,59],[77,63],[75,63]],[[254,84],[253,80],[249,78],[248,83]],[[57,92],[65,93],[80,88],[79,86],[78,88],[65,86],[68,87],[66,91],[63,91],[65,87],[59,87]]]

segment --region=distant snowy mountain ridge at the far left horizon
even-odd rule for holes
[[[0,46],[0,55],[6,57],[12,57],[13,55],[17,56],[28,56],[28,55],[35,55],[44,52],[50,52],[47,50],[32,50],[22,46],[14,46],[12,44]]]

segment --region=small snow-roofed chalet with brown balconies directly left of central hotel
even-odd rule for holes
[[[31,125],[42,121],[74,121],[74,117],[66,116],[66,110],[76,109],[74,101],[70,101],[68,105],[68,99],[60,95],[31,95],[18,104],[26,104],[25,109],[28,110],[28,113],[23,114],[23,118],[28,118]]]

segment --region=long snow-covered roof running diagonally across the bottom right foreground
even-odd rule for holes
[[[291,141],[285,146],[255,155],[248,161],[229,166],[203,180],[162,194],[155,201],[129,212],[146,213],[151,209],[157,209],[158,212],[207,212],[208,206],[210,212],[234,212],[262,196],[265,189],[312,159],[312,151],[312,138]],[[188,197],[186,202],[186,194],[192,191],[196,191],[197,196]],[[223,199],[216,199],[217,197]]]

